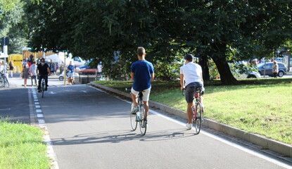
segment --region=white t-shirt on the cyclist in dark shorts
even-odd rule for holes
[[[184,75],[184,80],[186,81],[186,84],[184,84],[185,86],[191,82],[202,82],[201,73],[201,65],[193,62],[186,63],[180,68],[180,74]]]

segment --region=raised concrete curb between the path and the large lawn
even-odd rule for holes
[[[131,98],[130,94],[127,94],[125,92],[121,92],[118,89],[113,89],[110,87],[103,86],[101,84],[96,84],[94,82],[90,82],[91,85],[94,87],[98,87],[99,89],[106,90],[108,92],[113,92],[115,94],[118,94],[120,96],[125,96],[127,98]],[[186,113],[184,111],[179,111],[175,108],[171,108],[170,106],[165,106],[164,104],[160,104],[155,101],[149,101],[149,104],[151,106],[154,106],[155,108],[159,108],[161,111],[165,111],[167,113],[170,113],[172,115],[177,115],[180,118],[186,119]],[[266,137],[263,137],[259,134],[253,134],[250,132],[246,132],[244,130],[236,129],[235,127],[231,127],[229,125],[224,125],[222,123],[217,123],[214,120],[209,120],[207,118],[204,118],[203,125],[205,127],[209,127],[213,130],[217,130],[219,132],[223,132],[224,134],[228,134],[232,137],[237,137],[239,139],[243,139],[244,141],[256,144],[258,146],[262,146],[262,149],[269,149],[274,152],[277,152],[279,154],[282,154],[284,156],[292,157],[292,146],[289,144],[285,144],[282,142],[278,142],[273,139],[268,139]]]

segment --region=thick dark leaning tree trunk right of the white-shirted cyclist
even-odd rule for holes
[[[232,75],[230,67],[226,60],[227,45],[224,43],[217,43],[212,44],[212,48],[215,49],[216,54],[212,55],[211,58],[217,66],[222,84],[238,84],[239,82]]]

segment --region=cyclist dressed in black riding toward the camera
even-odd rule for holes
[[[44,63],[44,58],[41,59],[41,63],[37,65],[37,75],[39,76],[39,86],[37,87],[38,92],[41,92],[41,83],[42,78],[44,78],[44,81],[46,82],[46,87],[44,90],[48,90],[48,75],[50,74],[50,68],[49,65]]]

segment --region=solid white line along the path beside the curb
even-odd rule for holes
[[[91,87],[91,86],[89,86],[89,87]],[[108,92],[105,92],[105,91],[103,91],[103,90],[101,90],[101,89],[98,89],[98,88],[96,88],[96,87],[91,87],[91,88],[96,89],[96,90],[98,90],[99,92],[103,92],[103,93],[108,94]],[[111,94],[108,94],[108,95],[113,96],[113,95],[111,95]],[[118,96],[114,96],[114,97],[120,99],[120,97],[118,97]],[[128,103],[128,104],[132,104],[131,101],[127,101],[127,100],[124,100],[124,99],[120,99],[120,100],[125,101],[125,102]],[[183,126],[186,125],[186,123],[182,123],[182,122],[179,121],[179,120],[175,120],[175,119],[173,119],[173,118],[170,118],[170,117],[168,117],[168,116],[166,116],[166,115],[163,115],[163,114],[161,114],[161,113],[158,113],[157,111],[153,111],[153,110],[150,110],[150,109],[149,109],[149,113],[153,113],[153,114],[155,114],[155,115],[159,115],[160,117],[165,118],[165,119],[167,119],[167,120],[170,120],[170,121],[172,121],[172,122],[174,122],[174,123],[177,123],[177,124],[179,124],[179,125],[183,125]],[[192,129],[192,130],[194,130],[194,129]],[[241,146],[241,145],[239,145],[239,144],[236,144],[236,143],[234,143],[234,142],[230,142],[229,140],[224,139],[224,138],[222,138],[222,137],[218,137],[218,136],[215,135],[215,134],[211,134],[211,133],[209,133],[209,132],[205,132],[205,131],[203,131],[203,130],[201,130],[201,133],[202,133],[202,134],[205,134],[206,136],[211,137],[211,138],[213,138],[213,139],[217,139],[218,141],[223,142],[224,144],[228,144],[229,146],[233,146],[233,147],[235,147],[235,148],[237,148],[237,149],[240,149],[241,151],[245,151],[245,152],[247,152],[248,154],[252,154],[253,156],[258,156],[259,158],[262,158],[262,159],[264,159],[264,160],[266,160],[266,161],[272,162],[272,163],[274,163],[274,164],[276,164],[276,165],[279,165],[279,166],[281,166],[281,167],[292,169],[292,166],[291,166],[291,165],[287,165],[286,163],[282,163],[281,161],[279,161],[279,160],[277,160],[277,159],[270,158],[269,156],[266,156],[265,154],[260,154],[260,153],[258,153],[257,151],[253,151],[253,150],[251,150],[251,149],[248,149],[248,148],[246,148],[246,147],[244,147],[244,146]]]

